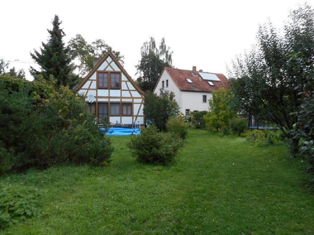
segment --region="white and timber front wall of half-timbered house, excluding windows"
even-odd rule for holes
[[[106,59],[98,65],[95,72],[90,75],[78,89],[78,94],[83,95],[87,102],[89,95],[95,96],[96,116],[98,116],[98,103],[108,103],[109,123],[132,124],[136,122],[144,125],[144,96],[133,86],[133,82],[130,80],[131,78],[129,78],[121,68],[122,66],[108,55]],[[108,89],[100,89],[97,83],[97,72],[119,72],[121,75],[120,89],[110,89],[110,86]],[[132,115],[123,116],[121,110],[120,116],[110,116],[110,103],[120,103],[121,106],[122,103],[132,103]]]

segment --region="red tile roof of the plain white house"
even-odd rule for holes
[[[221,73],[214,73],[220,81],[211,81],[214,83],[214,86],[210,86],[207,81],[203,80],[198,71],[196,71],[197,76],[193,76],[192,70],[174,69],[168,67],[165,67],[165,70],[181,91],[212,92],[218,90],[219,88],[228,87],[228,79]],[[193,83],[188,83],[187,78],[191,79]]]

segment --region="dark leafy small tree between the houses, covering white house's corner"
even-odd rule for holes
[[[163,89],[160,89],[159,96],[152,92],[146,94],[143,111],[147,123],[156,126],[159,130],[165,130],[167,120],[180,113],[174,93]]]

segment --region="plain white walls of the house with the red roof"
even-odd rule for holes
[[[169,86],[166,87],[166,80],[169,80]],[[154,90],[154,93],[159,95],[159,90],[162,88],[162,81],[165,81],[165,90],[170,90],[176,95],[175,99],[180,107],[180,112],[185,114],[186,109],[192,111],[208,111],[208,99],[212,98],[210,92],[193,92],[193,91],[180,91],[176,84],[172,81],[171,77],[166,70],[162,73],[159,82]],[[206,95],[206,103],[203,103],[203,95]]]

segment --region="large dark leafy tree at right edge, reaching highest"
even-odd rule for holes
[[[302,103],[296,88],[312,84],[306,68],[314,63],[313,16],[305,4],[290,12],[283,34],[270,22],[261,25],[257,44],[244,57],[236,57],[230,70],[231,97],[237,110],[258,113],[276,123],[287,138],[292,137],[289,130]],[[298,142],[298,138],[293,140],[294,153]]]

